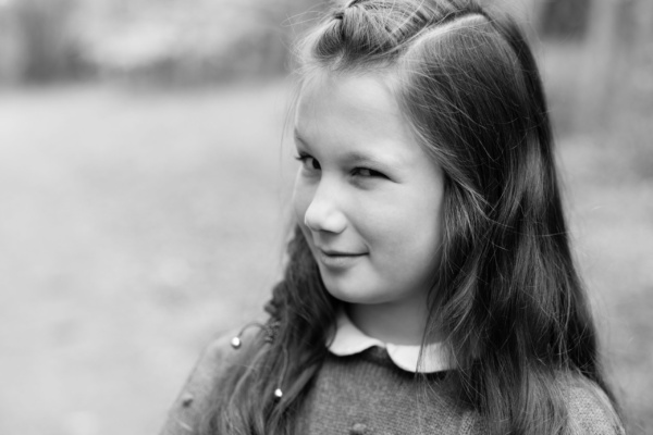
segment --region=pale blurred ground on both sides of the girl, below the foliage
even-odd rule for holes
[[[287,101],[280,82],[0,95],[0,433],[157,433],[202,346],[261,314]],[[653,173],[594,139],[559,137],[571,236],[632,433],[651,433]]]

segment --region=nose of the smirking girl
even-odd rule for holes
[[[304,214],[304,224],[313,232],[340,234],[345,231],[347,220],[338,207],[337,192],[323,185],[318,187]]]

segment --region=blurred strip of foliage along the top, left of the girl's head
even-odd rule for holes
[[[3,0],[0,82],[188,85],[284,71],[292,17],[318,1]]]

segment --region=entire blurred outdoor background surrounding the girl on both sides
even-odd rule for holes
[[[630,433],[653,433],[653,1],[484,0],[540,61]],[[262,315],[319,0],[0,0],[0,433],[157,433]]]

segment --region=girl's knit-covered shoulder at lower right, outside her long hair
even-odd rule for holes
[[[571,434],[623,435],[619,414],[607,395],[581,375],[567,376],[562,384],[567,401]]]

